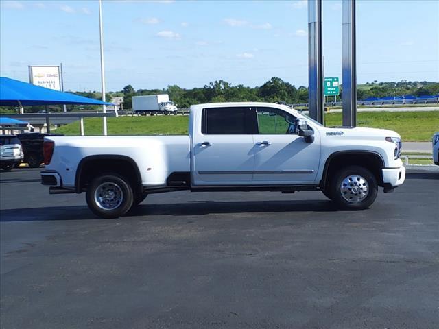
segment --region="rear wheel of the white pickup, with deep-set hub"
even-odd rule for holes
[[[102,193],[108,191],[108,198]],[[99,195],[102,199],[99,202]],[[130,183],[116,173],[106,173],[95,178],[87,188],[88,208],[102,218],[117,218],[130,210],[134,195]]]

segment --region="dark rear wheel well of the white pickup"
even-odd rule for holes
[[[93,178],[104,173],[116,173],[126,178],[134,193],[143,191],[139,167],[132,158],[128,156],[88,156],[81,160],[76,170],[76,193],[86,191]]]

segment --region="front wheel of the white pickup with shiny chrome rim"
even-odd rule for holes
[[[342,209],[364,210],[369,208],[377,198],[378,184],[377,179],[368,169],[349,166],[335,173],[329,183],[328,191],[331,199]],[[367,191],[367,193],[362,191]],[[361,198],[362,194],[365,194],[363,198]]]

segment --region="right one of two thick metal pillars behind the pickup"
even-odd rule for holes
[[[355,0],[343,0],[343,125],[357,125],[357,49],[355,40]]]

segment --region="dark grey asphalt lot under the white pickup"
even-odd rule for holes
[[[39,170],[0,173],[8,328],[438,328],[439,173],[369,210],[321,193],[150,195],[97,219]]]

